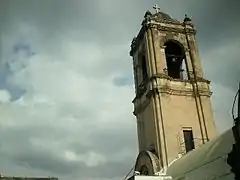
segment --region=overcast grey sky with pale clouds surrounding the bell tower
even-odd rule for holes
[[[231,126],[237,0],[1,0],[0,172],[123,179],[137,156],[129,47],[155,3],[192,17],[218,129]]]

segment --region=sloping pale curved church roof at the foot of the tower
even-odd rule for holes
[[[215,140],[212,140],[198,149],[195,149],[182,158],[176,160],[167,169],[167,174],[175,179],[201,180],[206,177],[222,177],[234,179],[230,173],[231,167],[227,164],[228,153],[234,144],[232,129],[229,129]]]

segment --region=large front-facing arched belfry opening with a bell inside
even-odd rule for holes
[[[167,41],[164,46],[168,76],[174,79],[187,79],[187,66],[183,46],[175,41]]]

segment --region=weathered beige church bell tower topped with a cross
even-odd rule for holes
[[[210,81],[203,76],[196,30],[147,11],[131,44],[139,156],[135,170],[153,174],[217,135]]]

